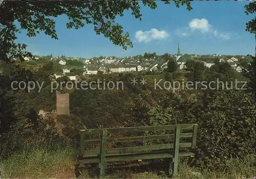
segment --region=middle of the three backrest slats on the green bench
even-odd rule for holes
[[[181,133],[180,138],[187,138],[192,137],[193,133]],[[114,138],[114,139],[106,139],[108,143],[114,142],[135,142],[135,141],[143,141],[143,140],[173,140],[174,134],[165,134],[165,135],[154,135],[154,136],[138,136],[138,137],[123,137],[123,138]],[[93,139],[93,140],[86,140],[87,144],[98,144],[101,140]]]

